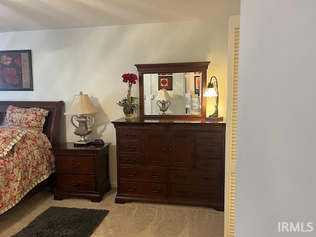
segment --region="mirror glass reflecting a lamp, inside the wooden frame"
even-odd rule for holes
[[[144,74],[145,115],[201,115],[201,72]]]

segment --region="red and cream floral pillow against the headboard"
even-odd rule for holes
[[[47,110],[40,108],[18,108],[10,105],[6,109],[4,125],[9,127],[22,127],[43,131]]]

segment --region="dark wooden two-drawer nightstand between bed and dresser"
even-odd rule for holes
[[[54,200],[87,197],[92,202],[100,202],[103,194],[111,189],[110,145],[74,147],[74,143],[65,143],[54,147],[57,179]]]

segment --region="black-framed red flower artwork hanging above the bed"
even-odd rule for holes
[[[33,90],[31,50],[0,51],[0,90]]]

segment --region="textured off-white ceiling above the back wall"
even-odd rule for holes
[[[0,32],[215,19],[240,0],[1,0]]]

